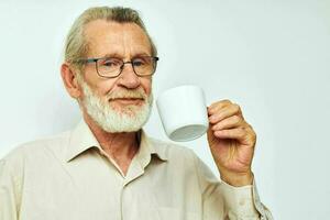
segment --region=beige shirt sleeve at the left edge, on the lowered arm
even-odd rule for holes
[[[4,160],[0,161],[0,220],[18,220],[18,183]]]

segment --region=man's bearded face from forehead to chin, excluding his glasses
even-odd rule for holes
[[[151,56],[151,44],[143,30],[133,23],[92,21],[85,29],[89,57],[116,57],[131,61]],[[152,108],[152,79],[139,77],[130,64],[116,78],[97,74],[95,63],[87,64],[78,77],[84,113],[108,132],[138,131],[147,121]]]

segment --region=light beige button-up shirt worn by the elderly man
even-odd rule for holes
[[[0,219],[272,219],[254,184],[232,187],[191,150],[140,139],[125,176],[84,121],[16,147],[0,161]]]

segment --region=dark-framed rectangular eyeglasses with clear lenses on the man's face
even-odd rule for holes
[[[160,58],[156,56],[139,56],[130,62],[124,62],[114,57],[82,58],[77,62],[85,64],[95,63],[97,73],[100,77],[116,78],[122,73],[125,64],[131,64],[133,72],[138,76],[151,76],[156,70],[158,59]]]

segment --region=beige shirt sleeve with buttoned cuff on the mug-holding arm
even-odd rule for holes
[[[254,180],[250,186],[231,186],[220,182],[201,160],[195,157],[205,220],[273,220],[271,211],[258,198]]]

